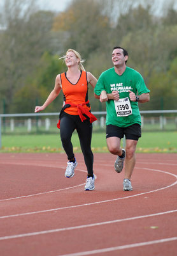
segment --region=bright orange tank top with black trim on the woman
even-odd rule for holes
[[[62,92],[64,94],[64,104],[65,102],[70,102],[73,104],[82,104],[88,100],[88,81],[87,81],[87,72],[81,70],[80,78],[76,84],[72,84],[66,76],[66,72],[60,74],[61,83],[62,83]],[[83,105],[83,108],[90,110],[90,105]],[[64,109],[69,115],[78,115],[78,109],[76,107],[69,107]]]

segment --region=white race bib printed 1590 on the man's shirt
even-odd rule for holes
[[[119,100],[114,100],[115,111],[117,116],[129,116],[132,115],[132,107],[129,98],[123,98]]]

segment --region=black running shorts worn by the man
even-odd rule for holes
[[[110,137],[124,138],[126,140],[138,140],[141,137],[141,125],[132,124],[127,127],[118,127],[117,125],[106,125],[106,139]]]

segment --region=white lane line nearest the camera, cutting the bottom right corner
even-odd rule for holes
[[[148,242],[143,242],[143,243],[125,244],[125,245],[121,245],[121,246],[103,248],[103,249],[99,249],[99,250],[62,254],[62,255],[58,255],[58,256],[85,256],[85,255],[92,255],[92,254],[96,254],[96,253],[106,253],[106,252],[114,252],[117,250],[136,248],[139,246],[148,246],[148,245],[152,245],[152,244],[167,243],[167,242],[176,241],[176,240],[177,240],[177,237],[168,237],[168,238],[164,238],[164,239],[153,240],[153,241],[148,241]]]

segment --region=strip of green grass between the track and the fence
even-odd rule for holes
[[[78,135],[74,132],[74,152],[81,152]],[[3,135],[0,152],[64,152],[57,134]],[[123,143],[123,141],[122,141]],[[104,133],[93,133],[93,152],[108,152]],[[177,132],[143,132],[136,152],[177,152]]]

